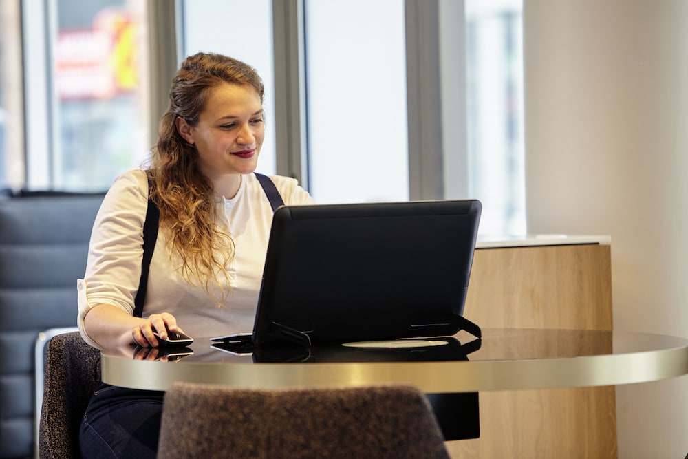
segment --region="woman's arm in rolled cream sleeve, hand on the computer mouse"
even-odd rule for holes
[[[136,343],[158,345],[153,331],[171,314],[133,317],[143,255],[143,224],[148,203],[144,171],[120,175],[105,195],[94,222],[84,279],[77,281],[78,325],[84,339],[98,348]]]

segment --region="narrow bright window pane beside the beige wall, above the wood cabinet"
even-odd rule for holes
[[[469,194],[483,234],[526,231],[521,0],[466,0]]]

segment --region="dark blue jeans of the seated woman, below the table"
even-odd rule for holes
[[[155,459],[164,392],[101,384],[81,423],[84,459]]]

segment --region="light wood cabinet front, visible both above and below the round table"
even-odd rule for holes
[[[612,330],[611,248],[479,248],[464,316],[482,328]],[[447,447],[452,458],[616,458],[614,387],[482,392],[480,438]]]

